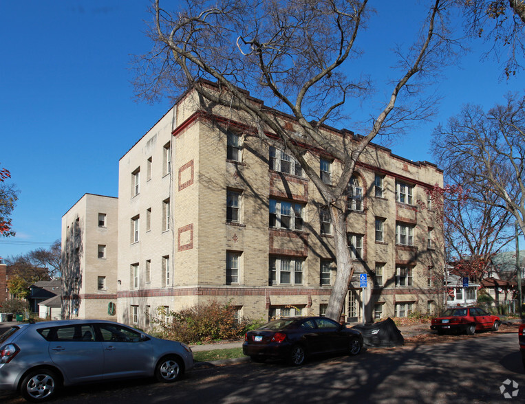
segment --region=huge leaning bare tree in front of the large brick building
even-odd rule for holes
[[[366,74],[349,78],[350,67],[343,69],[361,53],[356,47],[358,32],[373,14],[367,0],[181,3],[172,13],[162,9],[158,0],[154,4],[150,32],[154,47],[136,63],[138,96],[151,101],[177,97],[193,88],[203,104],[242,111],[261,139],[267,139],[266,133],[278,137],[329,208],[337,271],[326,314],[339,319],[354,273],[347,248],[348,184],[361,153],[376,135],[399,133],[410,120],[430,113],[433,104],[418,86],[451,59],[444,14],[448,2],[431,1],[414,44],[398,48],[397,78],[384,106],[371,113],[374,119],[367,133],[347,132],[342,139],[327,135],[323,126],[339,122],[343,105],[361,102],[371,89]],[[272,109],[254,102],[248,91]],[[407,104],[400,105],[398,98]],[[273,108],[294,117],[300,143]],[[306,158],[309,148],[341,164],[334,186],[324,183],[312,159]]]

